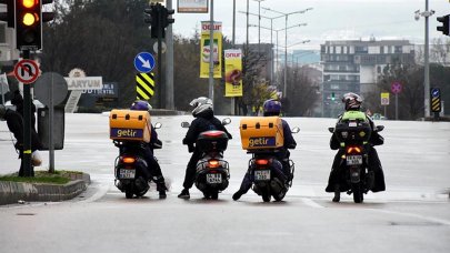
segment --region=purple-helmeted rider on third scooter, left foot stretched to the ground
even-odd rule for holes
[[[279,117],[281,113],[281,102],[270,99],[266,100],[263,104],[263,115],[264,117]],[[296,149],[297,142],[293,140],[291,129],[288,122],[281,119],[283,125],[283,136],[284,136],[284,144],[279,152],[274,153],[278,160],[282,164],[283,173],[288,178],[288,182],[293,179],[293,174],[291,174],[290,165],[289,165],[289,156],[290,152],[288,149]],[[251,174],[250,171],[247,171],[246,175],[243,176],[242,183],[240,189],[233,194],[233,200],[239,200],[243,194],[246,194],[249,189],[251,188]]]

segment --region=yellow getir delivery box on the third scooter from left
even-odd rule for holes
[[[240,122],[242,149],[263,150],[283,146],[283,125],[279,117],[247,117]]]

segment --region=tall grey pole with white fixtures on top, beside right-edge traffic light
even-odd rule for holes
[[[417,10],[414,12],[414,19],[419,20],[420,16],[426,18],[426,34],[424,34],[424,115],[423,118],[430,117],[430,62],[429,62],[429,39],[428,39],[428,18],[434,14],[434,11],[428,10],[428,0],[426,0],[426,11],[420,12],[420,10]]]

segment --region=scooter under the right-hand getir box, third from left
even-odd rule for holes
[[[292,133],[300,132],[300,128],[293,128]],[[252,150],[247,153],[252,154],[249,161],[249,172],[252,179],[252,190],[262,198],[263,202],[270,202],[271,198],[276,201],[284,199],[289,188],[292,186],[293,173],[296,166],[292,160],[289,160],[290,176],[286,176],[282,170],[282,163],[277,156],[277,149]]]

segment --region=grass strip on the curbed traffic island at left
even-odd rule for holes
[[[78,171],[34,171],[33,178],[22,178],[18,173],[0,175],[0,181],[24,182],[24,183],[46,183],[46,184],[66,184],[73,179],[73,174],[82,174]]]

